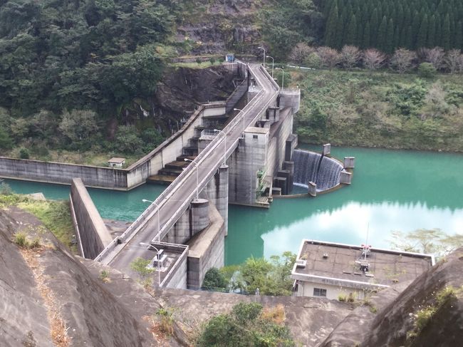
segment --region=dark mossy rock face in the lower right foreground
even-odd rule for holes
[[[392,286],[371,296],[321,346],[444,347],[461,346],[462,341],[463,248],[460,248],[405,289]]]

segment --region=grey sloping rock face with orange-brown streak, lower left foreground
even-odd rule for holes
[[[19,248],[16,232],[40,237],[41,247]],[[158,346],[142,318],[157,301],[127,279],[117,289],[133,295],[118,298],[31,214],[0,210],[0,249],[1,346]],[[143,315],[133,309],[137,299],[147,303]]]

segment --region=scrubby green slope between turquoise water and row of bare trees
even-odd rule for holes
[[[463,80],[368,71],[292,71],[303,143],[463,151]]]

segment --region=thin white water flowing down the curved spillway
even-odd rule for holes
[[[294,150],[294,184],[308,187],[308,182],[315,182],[317,191],[328,190],[339,184],[343,165],[330,157],[307,150]]]

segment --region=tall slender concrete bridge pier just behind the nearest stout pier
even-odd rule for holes
[[[206,193],[209,202],[214,204],[217,211],[224,219],[225,235],[228,234],[228,190],[229,190],[229,166],[222,165],[207,184],[203,192]]]

